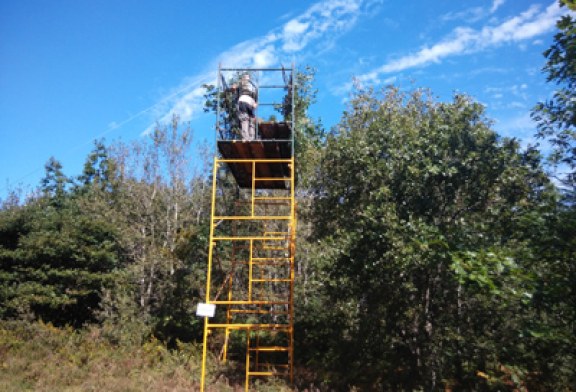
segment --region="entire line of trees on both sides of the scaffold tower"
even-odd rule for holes
[[[299,74],[298,385],[574,390],[576,56],[559,55],[573,26],[547,52],[568,88],[534,110],[560,179],[465,95],[358,87],[325,132],[307,117],[313,72]],[[175,117],[146,142],[96,143],[78,177],[51,160],[35,194],[5,200],[0,317],[199,342],[210,157],[191,140]]]

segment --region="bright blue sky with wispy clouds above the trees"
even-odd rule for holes
[[[0,199],[36,187],[51,156],[78,175],[95,139],[138,140],[173,113],[213,141],[201,85],[219,63],[315,67],[311,114],[327,128],[357,78],[467,93],[530,143],[530,109],[554,88],[542,52],[567,12],[552,0],[2,0]]]

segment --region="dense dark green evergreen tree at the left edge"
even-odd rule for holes
[[[93,321],[101,289],[121,264],[116,228],[58,192],[2,210],[0,222],[2,317]]]

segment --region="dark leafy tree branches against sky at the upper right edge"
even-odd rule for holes
[[[576,9],[574,3],[566,3]],[[570,172],[563,179],[574,190],[576,184],[576,21],[563,16],[556,24],[554,43],[544,52],[543,71],[547,81],[558,85],[552,99],[540,102],[532,111],[538,123],[537,136],[547,139],[553,147],[551,161],[564,164]]]

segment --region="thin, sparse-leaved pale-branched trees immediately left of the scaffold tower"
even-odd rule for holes
[[[128,259],[102,312],[116,323],[115,338],[138,323],[167,340],[199,331],[193,302],[203,286],[209,188],[191,175],[191,143],[191,128],[174,116],[148,140],[112,148],[121,179],[113,219]]]

